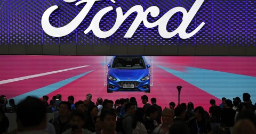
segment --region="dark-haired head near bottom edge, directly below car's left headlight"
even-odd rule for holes
[[[116,128],[116,114],[114,111],[106,108],[101,111],[100,120],[102,121],[102,129],[106,131],[114,131]]]

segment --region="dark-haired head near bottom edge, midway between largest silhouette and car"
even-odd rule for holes
[[[77,125],[77,130],[82,129],[85,124],[85,116],[81,111],[74,110],[69,115],[69,122],[71,126]]]

